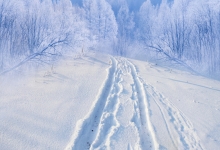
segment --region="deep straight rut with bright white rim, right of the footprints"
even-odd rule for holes
[[[156,139],[154,127],[150,120],[150,108],[148,99],[146,97],[144,84],[141,82],[141,78],[138,76],[135,65],[130,61],[127,62],[131,68],[131,74],[134,81],[134,86],[132,88],[134,93],[133,95],[136,95],[138,100],[134,105],[135,114],[133,121],[139,131],[140,146],[142,149],[159,149],[159,144]],[[138,117],[138,114],[140,118]],[[141,124],[138,124],[138,120],[141,122]],[[151,145],[149,147],[149,143],[151,142],[152,147]]]

